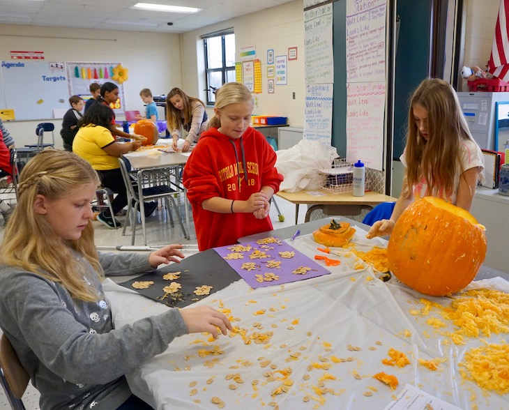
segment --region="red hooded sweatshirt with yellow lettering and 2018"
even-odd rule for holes
[[[212,197],[245,201],[262,186],[278,192],[283,176],[275,168],[276,155],[261,132],[248,128],[231,139],[210,128],[203,132],[184,167],[183,183],[192,205],[199,250],[232,245],[242,236],[273,229],[269,216],[206,211]]]

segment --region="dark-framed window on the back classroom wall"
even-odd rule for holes
[[[233,29],[203,36],[207,105],[214,105],[214,91],[235,81],[235,34]]]

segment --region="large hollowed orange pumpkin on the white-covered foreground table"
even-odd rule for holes
[[[412,289],[454,294],[476,277],[485,259],[485,227],[443,199],[421,198],[398,218],[387,254],[390,271]]]

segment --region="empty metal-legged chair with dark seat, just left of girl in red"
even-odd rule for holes
[[[173,227],[173,215],[172,210],[170,208],[170,201],[175,209],[176,216],[178,218],[178,223],[181,226],[182,233],[185,238],[188,237],[188,234],[185,231],[184,225],[182,223],[182,218],[180,214],[180,208],[177,207],[174,195],[178,193],[176,190],[169,187],[171,182],[169,181],[170,174],[169,172],[165,172],[164,170],[144,170],[141,174],[138,175],[137,181],[132,178],[132,175],[129,172],[130,162],[126,158],[119,158],[120,169],[122,172],[123,182],[126,184],[126,190],[128,192],[128,212],[126,222],[123,225],[122,235],[126,234],[127,222],[129,222],[131,226],[131,245],[135,244],[135,236],[136,236],[136,213],[138,209],[142,209],[141,204],[144,202],[152,202],[158,199],[165,200],[166,211],[169,215],[170,225]],[[139,183],[142,184],[142,190],[139,190]],[[142,220],[142,232],[144,238],[144,245],[146,245],[146,226],[145,226],[145,215],[144,212],[140,212],[141,220]]]

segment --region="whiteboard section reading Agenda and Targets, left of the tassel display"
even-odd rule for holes
[[[1,61],[0,109],[14,109],[16,120],[53,118],[69,108],[66,64],[48,61]]]

